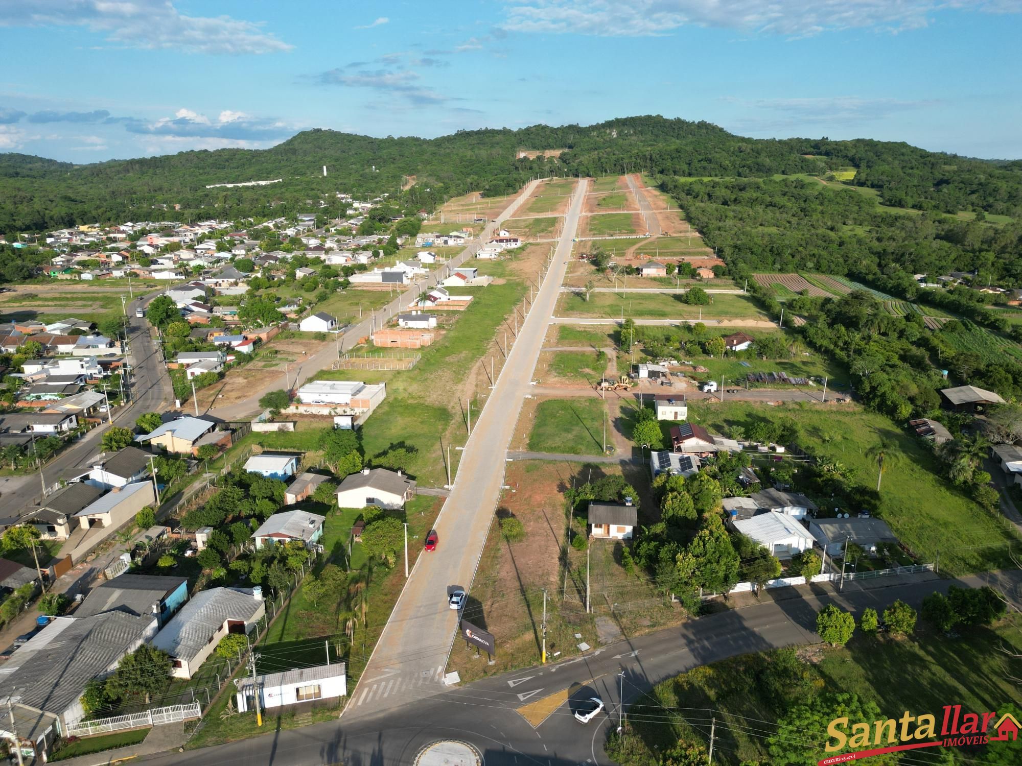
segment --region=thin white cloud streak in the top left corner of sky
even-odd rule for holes
[[[0,27],[86,27],[126,47],[186,53],[277,53],[294,47],[259,23],[186,16],[169,0],[16,0],[0,3]]]

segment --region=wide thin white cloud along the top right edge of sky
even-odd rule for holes
[[[680,27],[719,27],[804,37],[846,29],[925,27],[946,8],[1022,11],[1018,0],[522,0],[506,7],[506,30],[651,37]]]

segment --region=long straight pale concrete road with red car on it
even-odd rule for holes
[[[579,181],[575,187],[553,262],[486,404],[472,423],[458,479],[436,521],[437,549],[419,557],[345,715],[371,715],[405,702],[407,697],[397,689],[409,682],[417,683],[420,695],[444,688],[444,670],[458,628],[458,613],[448,608],[448,595],[456,588],[467,591],[472,583],[504,483],[508,444],[531,388],[587,186],[588,181]]]

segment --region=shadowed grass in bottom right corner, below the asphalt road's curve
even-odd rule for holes
[[[961,704],[969,711],[996,710],[1006,702],[1019,705],[1022,695],[1012,681],[1020,672],[1019,662],[1001,651],[1003,644],[1018,651],[1019,636],[1006,621],[992,630],[968,629],[959,638],[924,633],[915,640],[898,640],[858,634],[843,649],[800,650],[797,667],[804,690],[798,693],[799,701],[821,691],[852,692],[875,702],[883,716],[898,718],[908,710],[938,719],[944,705]],[[631,735],[614,760],[626,766],[654,766],[660,763],[659,754],[679,739],[705,746],[708,731],[703,719],[713,711],[717,762],[770,763],[763,735],[774,731],[771,722],[781,718],[784,709],[783,700],[768,691],[762,679],[791,652],[737,657],[658,683],[628,709]],[[960,672],[962,667],[970,672]],[[819,740],[824,736],[821,733]],[[816,737],[807,738],[815,745]],[[823,755],[822,745],[810,746],[806,762]],[[937,762],[943,761],[933,761]]]

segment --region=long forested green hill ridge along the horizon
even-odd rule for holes
[[[564,151],[557,158],[519,159],[519,149]],[[188,151],[87,165],[0,154],[0,232],[153,218],[266,217],[273,203],[293,211],[292,205],[335,191],[396,192],[412,175],[417,183],[408,201],[432,208],[445,197],[506,193],[544,175],[763,178],[847,166],[857,171],[853,183],[876,188],[889,204],[1004,214],[1022,207],[1019,162],[997,164],[902,143],[748,139],[708,123],[638,116],[587,127],[460,131],[429,140],[314,130],[265,150]],[[205,188],[272,179],[283,181]]]

